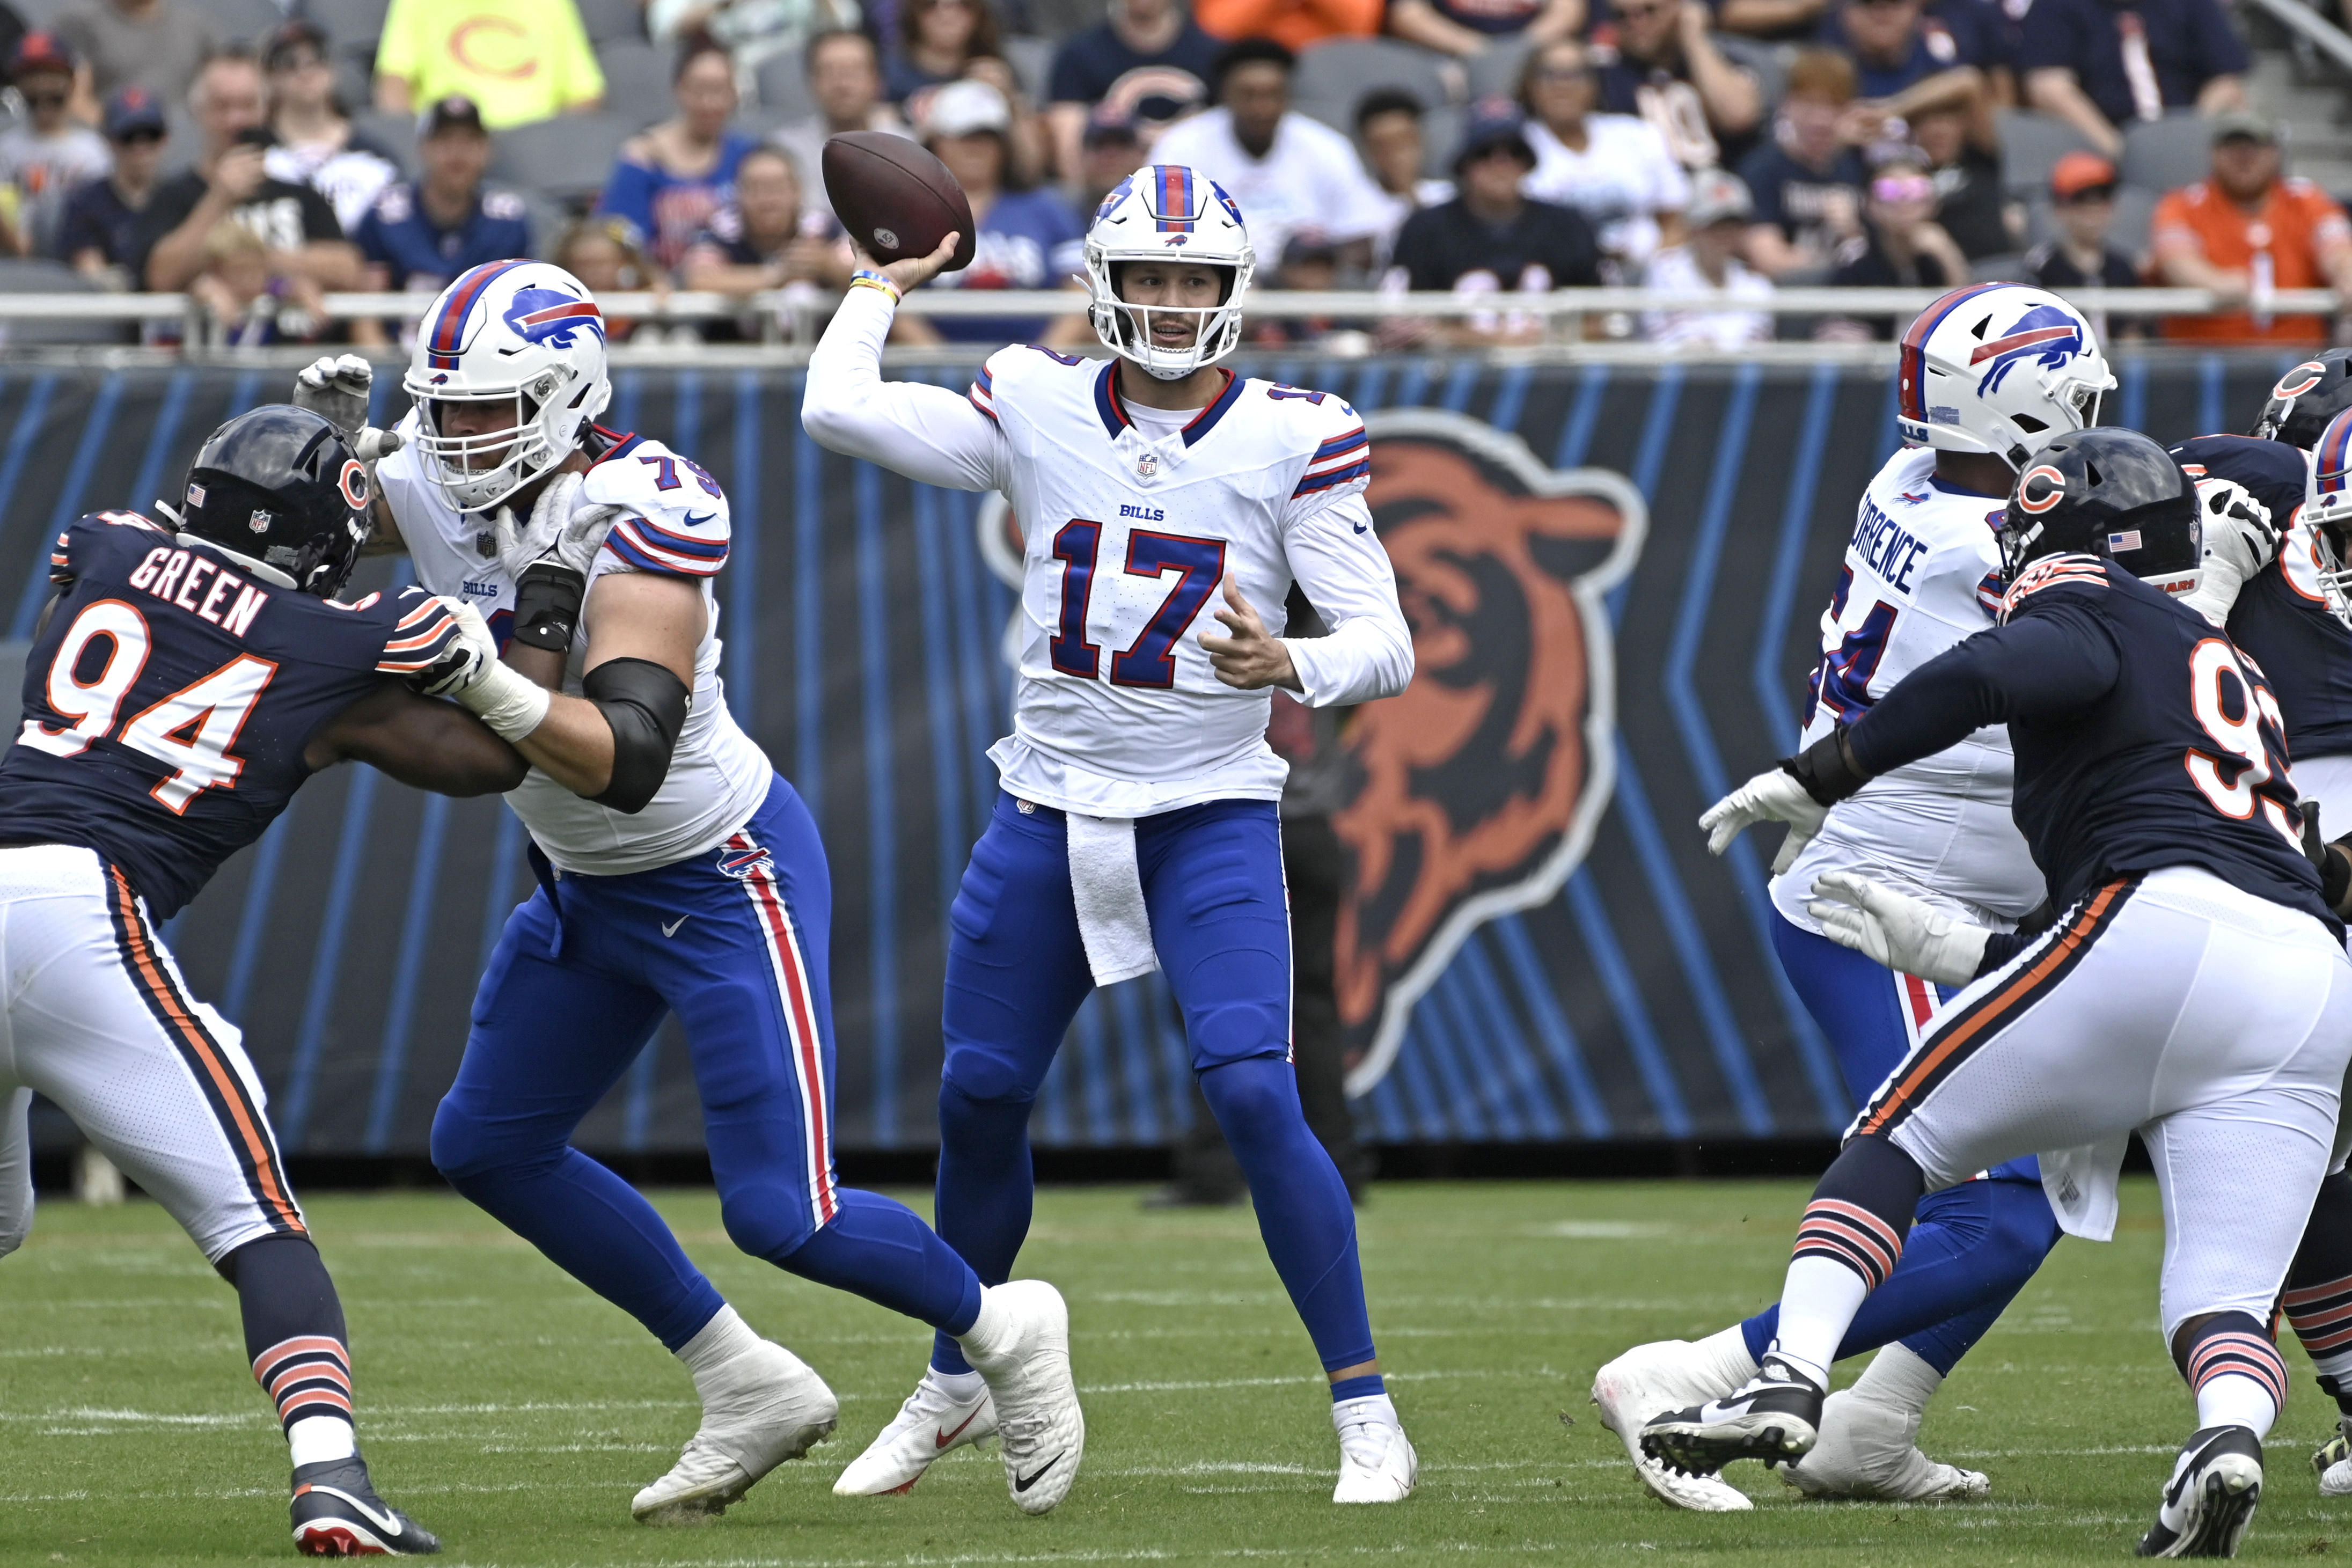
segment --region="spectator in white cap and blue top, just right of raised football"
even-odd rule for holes
[[[922,120],[922,143],[948,165],[971,202],[974,256],[960,273],[941,273],[934,289],[1075,289],[1084,268],[1087,230],[1061,195],[1033,186],[1011,155],[1011,108],[988,82],[948,82]],[[906,343],[1091,343],[1087,317],[901,315]]]

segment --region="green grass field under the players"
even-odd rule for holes
[[[1947,1507],[1804,1502],[1752,1465],[1738,1516],[1646,1497],[1585,1403],[1616,1349],[1712,1331],[1778,1286],[1795,1182],[1395,1185],[1364,1211],[1374,1328],[1421,1490],[1329,1505],[1336,1448],[1305,1333],[1247,1211],[1145,1213],[1134,1190],[1047,1192],[1023,1272],[1070,1298],[1087,1469],[1025,1519],[995,1453],[908,1497],[840,1500],[924,1335],[739,1255],[706,1192],[666,1192],[687,1251],[842,1396],[842,1429],[701,1530],[644,1530],[630,1493],[694,1429],[659,1345],[447,1197],[322,1197],[350,1312],[362,1443],[456,1563],[1430,1563],[1625,1552],[1759,1563],[2117,1561],[2147,1526],[2187,1396],[2154,1316],[2147,1182],[2114,1244],[2060,1244],[1929,1415],[1926,1446],[1992,1474]],[[924,1204],[927,1208],[927,1204]],[[285,1446],[245,1378],[230,1291],[153,1204],[42,1211],[0,1265],[0,1561],[282,1561]],[[2305,1453],[2331,1410],[2288,1349],[2251,1559],[2352,1554]],[[1849,1373],[1858,1363],[1849,1363]],[[2340,1544],[2338,1544],[2340,1540]]]

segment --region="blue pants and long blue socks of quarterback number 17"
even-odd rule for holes
[[[1249,1180],[1265,1253],[1324,1371],[1371,1361],[1355,1206],[1308,1131],[1289,1063],[1291,926],[1275,802],[1148,816],[1136,823],[1136,870],[1192,1072]],[[1061,811],[997,795],[948,924],[938,1234],[997,1284],[1030,1227],[1030,1107],[1094,990]],[[964,1371],[948,1335],[931,1366]]]

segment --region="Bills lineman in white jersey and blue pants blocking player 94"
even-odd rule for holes
[[[367,407],[365,360],[301,381],[346,421]],[[727,496],[684,454],[593,423],[612,395],[604,322],[555,266],[452,282],[407,390],[376,522],[492,649],[445,691],[532,762],[508,799],[539,877],[482,976],[433,1164],[694,1373],[701,1429],[630,1512],[720,1514],[837,1410],[652,1204],[569,1147],[666,1011],[687,1030],[727,1234],[960,1345],[995,1396],[1014,1502],[1049,1512],[1084,1453],[1061,1295],[983,1291],[913,1211],[833,1175],[833,886],[807,806],[720,691]]]

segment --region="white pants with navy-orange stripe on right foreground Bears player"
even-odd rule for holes
[[[2138,1131],[2164,1194],[2166,1342],[2267,1321],[2328,1171],[2352,961],[2310,914],[2192,867],[2093,889],[1959,992],[1856,1119],[1929,1190]]]

